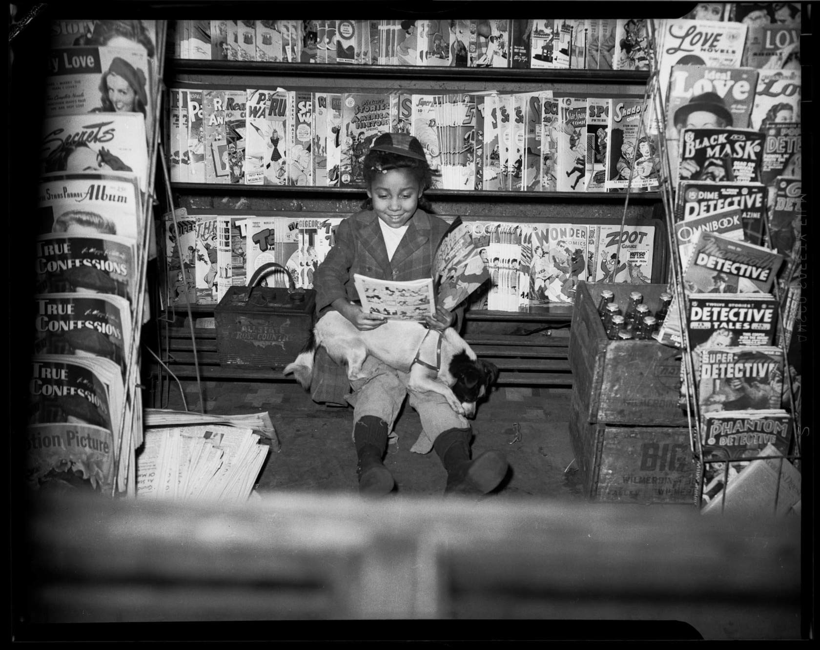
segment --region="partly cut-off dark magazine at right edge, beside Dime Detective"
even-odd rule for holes
[[[803,184],[800,179],[778,176],[774,203],[768,216],[769,243],[786,258],[781,284],[788,284],[800,264],[800,230],[804,219]]]

